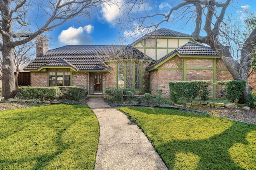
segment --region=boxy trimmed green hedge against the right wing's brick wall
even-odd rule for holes
[[[170,99],[174,103],[185,99],[188,102],[200,97],[201,100],[207,100],[210,90],[208,86],[212,84],[211,81],[175,81],[169,82]]]

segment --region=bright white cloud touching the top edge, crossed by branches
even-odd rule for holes
[[[115,0],[113,3],[103,3],[102,4],[102,16],[104,20],[108,23],[114,24],[115,20],[117,20],[122,12],[120,7],[124,5],[124,0]]]

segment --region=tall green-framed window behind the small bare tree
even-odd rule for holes
[[[118,88],[141,89],[141,64],[118,63]]]

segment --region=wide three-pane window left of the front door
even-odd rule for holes
[[[49,86],[70,86],[70,72],[49,72]]]

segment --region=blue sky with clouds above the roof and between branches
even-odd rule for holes
[[[118,0],[123,2],[124,0]],[[146,10],[152,10],[155,6],[156,10],[167,12],[170,7],[176,4],[176,1],[171,0],[154,0],[145,4]],[[248,8],[256,11],[256,0],[241,0],[238,4],[235,4],[237,8]],[[243,12],[230,8],[227,10],[230,13],[234,13],[240,19],[246,18]],[[124,36],[126,32],[133,30],[120,30],[119,26],[116,26],[116,19],[120,11],[115,6],[108,6],[104,8],[103,12],[95,12],[91,19],[80,18],[79,22],[68,21],[62,26],[54,28],[52,31],[44,33],[46,36],[52,38],[49,49],[64,45],[112,45],[120,36]],[[244,18],[243,18],[244,17]],[[184,27],[181,24],[170,25],[169,23],[163,23],[159,28],[168,28],[176,30],[186,34],[191,34],[191,26]],[[127,43],[133,42],[134,39],[129,40]]]

